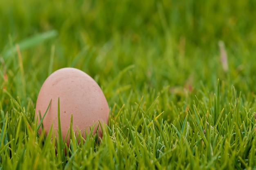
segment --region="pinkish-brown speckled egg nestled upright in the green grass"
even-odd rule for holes
[[[98,125],[99,122],[108,124],[109,107],[105,95],[92,77],[76,68],[61,68],[47,77],[38,94],[35,114],[39,123],[39,114],[43,117],[52,100],[43,119],[46,135],[52,124],[55,134],[58,134],[58,99],[63,140],[70,128],[71,115],[74,131],[81,130],[85,138],[85,131],[90,133],[90,127],[94,126],[93,134],[99,127],[98,137],[102,138],[102,129]],[[67,145],[69,141],[68,133]]]

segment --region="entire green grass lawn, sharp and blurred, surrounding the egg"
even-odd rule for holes
[[[0,1],[0,169],[256,169],[255,7]],[[70,132],[68,147],[37,133],[38,92],[63,67],[106,95],[100,142]]]

